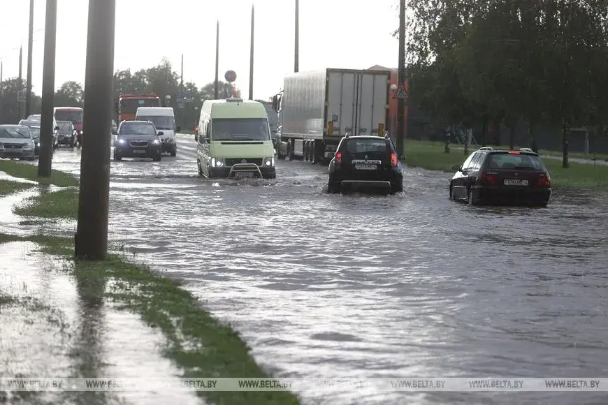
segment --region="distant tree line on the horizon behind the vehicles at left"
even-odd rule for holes
[[[197,87],[193,82],[183,83],[183,94],[191,96],[187,101],[178,100],[180,94],[180,75],[173,70],[168,59],[163,58],[157,66],[140,69],[131,73],[129,69],[114,73],[114,94],[120,93],[157,94],[163,103],[175,110],[175,119],[183,128],[194,128],[203,101],[214,98],[215,82]],[[22,80],[22,88],[27,82]],[[233,92],[230,83],[219,81],[219,98],[226,98]],[[238,90],[237,90],[238,91]],[[19,79],[8,78],[0,84],[0,124],[16,124],[25,118],[25,103],[17,101]],[[238,91],[240,96],[240,91]],[[167,100],[166,96],[171,96]],[[55,106],[83,107],[85,100],[84,86],[72,80],[61,84],[55,92]],[[31,114],[40,114],[41,96],[32,93]],[[115,118],[116,119],[116,118]]]

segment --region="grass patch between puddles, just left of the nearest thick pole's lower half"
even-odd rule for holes
[[[42,191],[39,196],[24,200],[14,209],[20,216],[39,216],[41,218],[78,218],[78,189]]]

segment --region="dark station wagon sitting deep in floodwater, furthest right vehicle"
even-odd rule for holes
[[[551,176],[532,149],[482,147],[452,169],[456,174],[449,183],[450,200],[547,207],[551,198]]]

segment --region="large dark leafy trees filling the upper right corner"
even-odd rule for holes
[[[608,3],[603,0],[410,0],[410,93],[434,119],[465,128],[559,125],[604,136]],[[397,33],[396,33],[397,34]],[[479,139],[479,138],[478,138]]]

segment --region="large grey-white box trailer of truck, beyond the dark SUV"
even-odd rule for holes
[[[331,161],[349,135],[384,136],[391,73],[327,68],[292,73],[273,97],[279,115],[280,159]]]

